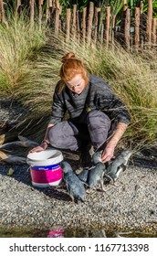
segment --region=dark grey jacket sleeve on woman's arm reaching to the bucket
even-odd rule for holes
[[[49,124],[57,124],[62,121],[65,115],[65,106],[62,98],[62,93],[58,93],[58,84],[56,86],[54,95],[53,95],[53,103],[52,103],[52,112]]]

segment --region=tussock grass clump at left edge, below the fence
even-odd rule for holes
[[[30,72],[29,61],[36,58],[45,42],[45,30],[31,27],[26,16],[9,16],[0,24],[0,94],[14,94],[18,83]]]

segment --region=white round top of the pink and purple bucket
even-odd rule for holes
[[[56,149],[47,149],[40,152],[29,153],[26,163],[31,166],[55,165],[63,160],[61,151]]]

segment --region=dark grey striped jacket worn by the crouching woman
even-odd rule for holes
[[[60,80],[53,95],[52,113],[49,123],[57,124],[62,121],[68,112],[70,119],[75,123],[86,123],[89,111],[105,112],[111,121],[116,123],[131,122],[131,116],[122,101],[111,91],[110,86],[95,75],[89,75],[89,84],[81,92],[75,94],[66,86],[58,93]]]

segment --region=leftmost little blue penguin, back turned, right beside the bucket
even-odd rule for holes
[[[72,198],[72,201],[80,200],[85,201],[86,190],[83,183],[80,181],[78,176],[76,176],[72,170],[71,165],[68,162],[63,161],[61,163],[63,169],[64,179],[66,181],[66,186],[68,188],[69,196]]]

